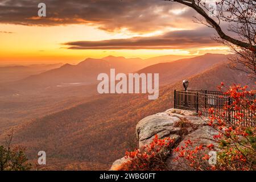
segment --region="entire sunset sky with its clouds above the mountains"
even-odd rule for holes
[[[38,3],[47,17],[38,17]],[[162,0],[1,0],[0,64],[78,63],[108,55],[228,53],[195,11]]]

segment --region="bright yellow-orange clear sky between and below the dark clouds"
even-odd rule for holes
[[[161,14],[163,10],[156,9],[155,14]],[[169,13],[174,15],[183,14],[187,9],[172,9]],[[165,15],[164,13],[162,13]],[[140,15],[141,16],[141,15]],[[161,16],[162,17],[162,16]],[[189,20],[192,21],[192,20]],[[106,24],[106,23],[105,23]],[[111,22],[109,22],[111,24]],[[210,53],[228,53],[227,48],[221,45],[212,45],[204,43],[196,43],[189,40],[186,47],[180,45],[175,48],[160,49],[68,49],[69,45],[64,43],[70,42],[101,42],[102,40],[110,40],[110,44],[115,39],[126,40],[135,37],[144,38],[166,38],[165,34],[173,31],[196,30],[197,25],[183,24],[176,22],[175,26],[166,26],[157,30],[148,29],[148,31],[134,31],[131,27],[119,27],[114,30],[104,30],[99,24],[55,24],[54,26],[44,25],[20,25],[16,23],[0,22],[0,64],[36,64],[36,63],[78,63],[86,57],[105,57],[108,55],[125,56],[125,57],[141,57],[148,58],[160,55],[202,55],[206,52]],[[202,26],[201,26],[202,27]],[[136,27],[140,28],[140,27]],[[204,42],[204,39],[202,39]],[[141,41],[141,40],[140,40]],[[175,42],[175,39],[172,40]],[[185,40],[186,41],[186,40]],[[177,40],[179,42],[179,40]],[[175,44],[175,43],[174,43]],[[208,46],[209,44],[209,46]],[[191,46],[189,46],[191,45]],[[158,43],[156,43],[156,47]],[[78,46],[79,47],[79,46]],[[80,47],[79,47],[80,48]]]

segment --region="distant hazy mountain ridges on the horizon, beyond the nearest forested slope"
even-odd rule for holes
[[[160,56],[148,60],[114,56],[103,57],[102,59],[88,58],[76,65],[64,64],[60,68],[11,82],[3,85],[3,88],[27,92],[27,90],[44,90],[49,87],[52,89],[56,86],[93,85],[97,84],[97,75],[100,73],[109,74],[110,68],[115,68],[117,73],[160,73],[160,84],[167,84],[212,67],[212,65],[226,60],[227,55],[206,54],[177,61],[170,59],[169,63],[161,63],[170,57],[171,55]]]

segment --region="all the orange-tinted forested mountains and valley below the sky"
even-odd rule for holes
[[[122,68],[113,56],[65,64],[24,78],[18,82],[27,86],[26,92],[0,96],[0,141],[14,129],[14,143],[27,147],[31,161],[36,161],[38,151],[46,151],[44,169],[109,169],[136,146],[134,131],[140,119],[173,106],[174,89],[183,89],[183,79],[189,80],[191,90],[216,90],[220,82],[253,86],[245,73],[228,68],[227,56],[206,54],[144,68],[137,65],[139,69],[134,66],[133,72],[159,73],[160,94],[153,101],[147,94],[97,94],[93,79],[98,72],[109,72],[113,65],[119,71],[132,70]],[[135,65],[137,60],[130,61]],[[57,86],[63,82],[86,84]],[[20,86],[16,81],[11,84],[12,89]],[[44,89],[31,91],[41,85]]]

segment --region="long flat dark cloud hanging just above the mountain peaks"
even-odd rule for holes
[[[110,39],[102,41],[78,41],[64,43],[68,49],[185,49],[218,46],[210,36],[210,28],[172,31],[160,36]]]

